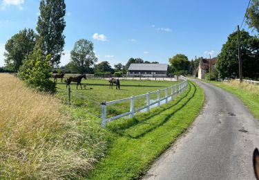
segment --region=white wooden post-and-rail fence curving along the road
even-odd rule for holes
[[[139,96],[132,96],[131,98],[124,98],[124,99],[120,99],[120,100],[113,100],[110,102],[102,102],[102,127],[106,126],[106,123],[111,121],[111,120],[115,120],[117,118],[122,118],[124,116],[129,116],[130,118],[133,118],[134,114],[137,111],[141,111],[142,109],[146,109],[146,111],[150,111],[151,106],[157,104],[157,107],[160,107],[161,103],[165,101],[165,103],[167,104],[169,100],[173,100],[173,96],[178,96],[178,94],[184,92],[184,90],[187,87],[187,79],[184,76],[180,76],[180,79],[182,80],[182,82],[180,82],[179,84],[175,84],[171,87],[166,87],[165,89],[158,89],[157,91],[153,91],[153,92],[148,92]],[[171,90],[171,91],[170,91]],[[165,91],[165,97],[161,98],[161,91]],[[154,102],[151,102],[150,97],[151,94],[157,94],[157,100],[155,100]],[[138,109],[134,108],[134,101],[137,98],[144,98],[146,97],[146,105],[144,107],[140,107]],[[127,111],[124,114],[119,114],[117,116],[113,116],[111,118],[106,118],[106,106],[108,105],[114,105],[116,103],[119,102],[130,102],[131,106],[129,111]]]

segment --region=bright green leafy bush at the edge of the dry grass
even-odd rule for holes
[[[50,58],[50,55],[44,57],[40,50],[33,51],[23,61],[23,65],[19,69],[19,78],[28,87],[37,91],[55,93],[56,84],[49,79],[51,77]]]

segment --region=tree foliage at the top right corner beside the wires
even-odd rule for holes
[[[259,33],[259,0],[252,0],[251,6],[247,9],[245,15],[246,22],[249,25],[249,28],[256,29]]]

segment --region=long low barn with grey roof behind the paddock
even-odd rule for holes
[[[167,75],[168,64],[131,64],[128,68],[130,76],[160,77]]]

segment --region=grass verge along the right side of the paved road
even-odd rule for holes
[[[253,84],[242,83],[238,81],[231,82],[213,82],[216,86],[229,91],[233,95],[238,96],[244,105],[246,105],[251,113],[259,120],[259,86]]]

